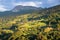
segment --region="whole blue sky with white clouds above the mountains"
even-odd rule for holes
[[[0,11],[11,10],[17,5],[47,8],[60,5],[60,0],[0,0]]]

